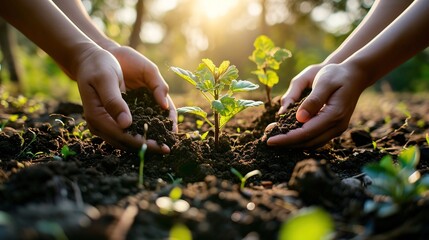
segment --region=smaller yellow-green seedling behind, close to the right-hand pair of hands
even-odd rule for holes
[[[256,70],[252,73],[265,85],[267,103],[271,106],[271,89],[279,82],[279,76],[275,70],[278,70],[280,64],[292,54],[287,49],[276,47],[274,42],[265,35],[257,37],[253,46],[255,50],[249,59],[256,63]]]

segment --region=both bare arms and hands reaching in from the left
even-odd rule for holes
[[[56,3],[64,11],[52,1],[3,1],[0,16],[47,52],[77,81],[91,132],[120,148],[142,145],[141,136],[133,137],[123,130],[132,122],[128,106],[121,97],[121,91],[127,87],[151,89],[160,105],[170,108],[175,121],[174,104],[167,95],[168,86],[152,62],[105,37],[92,25],[78,1]],[[133,64],[125,64],[127,61]],[[148,147],[160,153],[170,151],[152,140],[148,141]]]

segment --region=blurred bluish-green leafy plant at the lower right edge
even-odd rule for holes
[[[421,177],[416,170],[419,160],[419,149],[413,146],[399,154],[398,164],[389,155],[379,163],[367,164],[363,172],[372,179],[368,190],[374,195],[386,196],[388,200],[369,200],[365,203],[365,210],[376,211],[379,216],[389,216],[404,204],[419,199],[429,189],[429,176]]]

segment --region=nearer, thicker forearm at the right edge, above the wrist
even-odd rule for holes
[[[429,45],[429,1],[416,0],[373,41],[344,61],[366,75],[366,85]]]

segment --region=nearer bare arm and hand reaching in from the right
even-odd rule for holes
[[[428,12],[429,1],[414,1],[360,50],[317,71],[313,90],[297,112],[297,119],[305,124],[271,137],[268,145],[317,147],[345,131],[362,91],[429,45]]]

